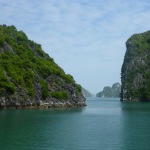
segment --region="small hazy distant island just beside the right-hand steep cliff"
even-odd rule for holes
[[[121,85],[120,83],[117,82],[114,83],[112,87],[105,86],[103,88],[103,91],[96,94],[96,97],[106,97],[106,98],[120,97],[120,91],[121,91]]]

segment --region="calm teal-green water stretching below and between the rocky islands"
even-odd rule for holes
[[[150,103],[88,98],[87,107],[0,110],[0,150],[148,150]]]

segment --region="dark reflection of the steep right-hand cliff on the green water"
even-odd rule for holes
[[[123,102],[121,104],[123,142],[126,149],[149,149],[150,103]]]

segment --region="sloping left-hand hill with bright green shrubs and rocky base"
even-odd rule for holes
[[[0,25],[0,107],[83,106],[81,86],[40,44]]]

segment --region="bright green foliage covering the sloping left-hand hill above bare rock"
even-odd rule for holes
[[[76,84],[71,75],[66,75],[53,60],[46,54],[40,44],[28,40],[23,31],[17,31],[15,26],[0,25],[0,47],[8,49],[0,53],[0,95],[2,93],[13,94],[17,87],[24,88],[28,95],[35,96],[35,82],[40,83],[42,99],[50,95],[47,78],[55,75],[65,83],[76,87],[81,92],[80,85]],[[36,81],[38,76],[38,81]],[[62,88],[61,82],[55,82]],[[52,93],[52,97],[67,99],[68,93],[63,91]]]

